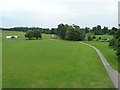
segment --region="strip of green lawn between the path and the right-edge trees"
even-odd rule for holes
[[[117,70],[118,72],[120,71],[120,68],[119,68],[120,64],[117,61],[116,51],[114,51],[113,48],[111,48],[109,46],[108,42],[88,41],[85,43],[91,44],[91,45],[95,46],[96,48],[98,48],[102,52],[104,57],[107,59],[108,63],[115,70]]]

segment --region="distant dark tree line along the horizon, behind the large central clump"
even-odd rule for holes
[[[59,25],[61,25],[61,24],[59,24]],[[68,26],[70,26],[70,25],[68,25]],[[51,28],[51,29],[49,29],[49,28],[39,28],[39,27],[2,28],[2,30],[6,30],[6,31],[22,31],[22,32],[26,32],[28,30],[35,30],[35,29],[40,30],[42,33],[45,33],[45,34],[56,34],[56,29],[57,28]],[[92,27],[92,28],[85,27],[85,28],[80,28],[80,29],[85,31],[86,33],[94,33],[95,35],[103,35],[103,34],[114,35],[115,32],[118,30],[116,27],[112,27],[111,29],[109,29],[106,26],[104,26],[102,28],[100,25],[97,25],[97,26]]]

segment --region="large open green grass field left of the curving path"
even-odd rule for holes
[[[3,88],[114,88],[95,50],[49,37],[3,39]]]

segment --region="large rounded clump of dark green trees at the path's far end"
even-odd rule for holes
[[[59,24],[56,30],[56,34],[63,40],[79,41],[85,38],[85,31],[77,25]]]

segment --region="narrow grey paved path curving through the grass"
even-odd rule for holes
[[[109,63],[107,62],[107,60],[105,59],[105,57],[102,55],[102,53],[101,53],[96,47],[94,47],[94,46],[92,46],[92,45],[90,45],[90,44],[87,44],[87,43],[84,43],[84,42],[80,42],[80,43],[85,44],[85,45],[87,45],[87,46],[90,46],[90,47],[92,47],[93,49],[96,50],[96,52],[98,53],[98,55],[99,55],[102,63],[104,64],[104,67],[105,67],[105,69],[107,70],[107,72],[108,72],[108,74],[109,74],[109,76],[110,76],[113,84],[115,85],[115,87],[117,88],[117,90],[120,90],[120,85],[118,85],[118,81],[120,81],[120,78],[118,78],[118,76],[120,76],[120,75],[118,75],[118,72],[115,71],[115,70],[109,65]],[[120,84],[120,83],[119,83],[119,84]]]

